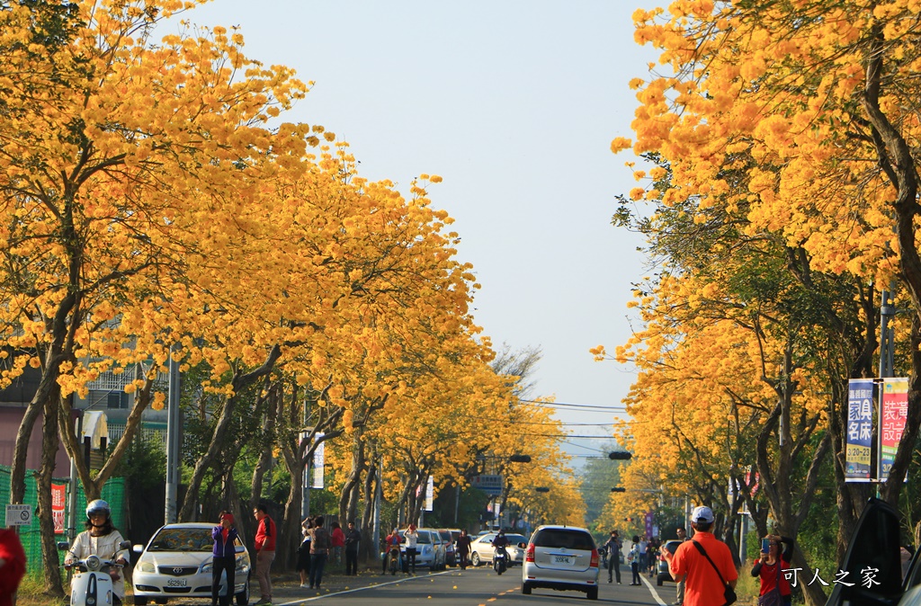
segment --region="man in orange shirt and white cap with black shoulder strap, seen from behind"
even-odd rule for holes
[[[682,542],[675,554],[664,550],[669,562],[669,572],[676,581],[685,579],[684,606],[722,606],[726,603],[726,590],[719,577],[735,589],[739,573],[732,561],[729,546],[717,539],[710,532],[714,517],[710,507],[696,507],[691,514],[691,526],[696,530],[691,541]],[[706,555],[713,561],[711,565],[706,556],[700,552],[696,543],[703,547]],[[716,566],[716,568],[714,567]],[[719,571],[717,574],[717,570]]]

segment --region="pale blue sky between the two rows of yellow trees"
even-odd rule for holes
[[[621,406],[633,375],[589,348],[623,344],[644,275],[635,235],[610,225],[635,181],[612,155],[632,136],[631,78],[654,54],[631,15],[650,0],[316,2],[214,0],[184,17],[239,26],[248,56],[313,80],[287,120],[348,141],[368,179],[406,193],[437,174],[459,258],[482,290],[474,317],[496,347],[542,347],[542,395]],[[560,407],[577,435],[610,435],[610,410]],[[599,440],[586,444],[600,446]],[[574,454],[591,454],[572,448]]]

